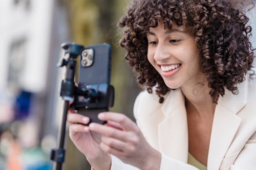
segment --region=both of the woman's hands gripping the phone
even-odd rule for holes
[[[112,112],[100,113],[98,118],[108,120],[108,124],[91,123],[89,127],[76,124],[87,124],[89,118],[75,111],[70,111],[67,118],[71,140],[95,170],[110,169],[110,154],[140,169],[159,169],[161,154],[146,142],[130,118]]]

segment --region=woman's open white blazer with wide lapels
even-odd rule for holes
[[[238,95],[225,90],[216,106],[208,170],[256,169],[256,79],[247,78],[238,89]],[[147,142],[162,154],[160,170],[197,169],[187,164],[187,117],[181,90],[168,92],[163,104],[158,100],[156,94],[141,92],[135,101],[134,115]],[[112,156],[111,169],[138,168]]]

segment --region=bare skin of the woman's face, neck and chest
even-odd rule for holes
[[[210,133],[216,104],[211,102],[209,88],[200,69],[200,50],[195,39],[183,26],[165,30],[162,23],[150,28],[148,61],[172,89],[181,88],[185,96],[189,152],[207,165]],[[161,66],[180,64],[174,74],[165,74]],[[166,76],[167,75],[167,76]]]

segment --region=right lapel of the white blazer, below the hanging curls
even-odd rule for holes
[[[216,106],[211,130],[208,170],[220,168],[222,160],[240,126],[241,118],[236,114],[246,104],[247,81],[239,84],[238,89],[238,95],[225,90],[225,95],[220,97]]]

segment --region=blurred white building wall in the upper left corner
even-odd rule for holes
[[[0,88],[18,86],[36,93],[44,91],[53,1],[0,3]]]

